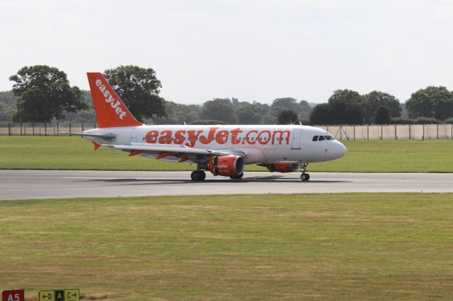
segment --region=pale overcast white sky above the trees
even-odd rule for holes
[[[87,71],[152,68],[161,96],[326,102],[381,90],[405,102],[453,90],[449,0],[0,0],[0,90],[47,64],[88,90]]]

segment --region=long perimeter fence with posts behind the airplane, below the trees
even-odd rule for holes
[[[453,124],[316,125],[337,140],[430,140],[453,139]],[[8,123],[0,125],[0,136],[60,136],[60,132],[81,133],[96,123]]]

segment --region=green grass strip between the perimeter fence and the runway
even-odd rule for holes
[[[345,157],[309,165],[311,172],[453,172],[453,141],[343,141]],[[0,136],[0,169],[193,170],[186,163],[150,160],[100,148],[79,137]],[[249,165],[248,171],[265,171]]]

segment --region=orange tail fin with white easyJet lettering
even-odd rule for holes
[[[91,97],[99,127],[141,126],[124,103],[120,100],[104,76],[98,72],[88,72]]]

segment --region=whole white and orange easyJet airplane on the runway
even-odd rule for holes
[[[323,129],[302,125],[144,125],[138,122],[101,73],[87,73],[98,129],[79,136],[130,156],[195,163],[190,177],[206,174],[241,179],[246,164],[270,172],[296,172],[308,181],[309,163],[343,157],[346,148]]]

